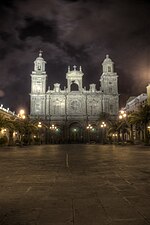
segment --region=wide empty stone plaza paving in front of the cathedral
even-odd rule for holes
[[[150,224],[150,148],[0,148],[0,225]]]

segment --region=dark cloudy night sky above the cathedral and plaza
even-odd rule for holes
[[[150,1],[1,0],[0,104],[29,110],[30,74],[39,50],[47,86],[66,86],[68,65],[82,66],[83,86],[102,74],[109,54],[119,75],[120,107],[150,82]]]

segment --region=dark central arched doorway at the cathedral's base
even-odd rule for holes
[[[80,123],[74,122],[69,126],[69,143],[83,142],[83,128]]]

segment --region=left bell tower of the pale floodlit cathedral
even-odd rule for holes
[[[34,71],[31,74],[30,115],[45,115],[46,71],[42,51],[34,61]]]

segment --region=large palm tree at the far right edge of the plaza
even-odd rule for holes
[[[129,115],[129,121],[142,131],[142,140],[148,144],[149,133],[147,127],[150,122],[150,105],[145,104],[144,106],[140,106],[138,111]]]

